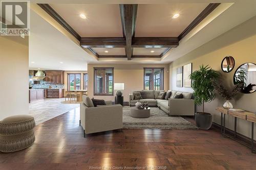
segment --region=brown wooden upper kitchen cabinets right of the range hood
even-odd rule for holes
[[[46,70],[46,78],[44,80],[53,84],[64,84],[64,71]]]

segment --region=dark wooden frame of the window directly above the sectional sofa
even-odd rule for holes
[[[150,86],[152,86],[152,89],[149,89],[149,90],[155,90],[155,81],[154,81],[154,76],[155,76],[155,72],[154,70],[155,69],[161,69],[162,71],[162,80],[160,78],[160,90],[163,90],[164,89],[164,67],[144,67],[143,68],[143,89],[145,90],[145,74],[146,74],[146,69],[152,69],[152,78],[150,78],[150,80],[152,79],[152,81],[149,80],[150,82]]]

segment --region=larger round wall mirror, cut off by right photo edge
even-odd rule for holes
[[[234,72],[234,84],[240,84],[242,93],[253,93],[256,91],[256,64],[244,63]]]

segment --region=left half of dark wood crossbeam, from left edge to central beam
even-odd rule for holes
[[[125,47],[126,41],[123,37],[81,37],[82,47]]]

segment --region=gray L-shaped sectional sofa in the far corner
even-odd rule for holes
[[[168,115],[195,115],[195,101],[192,93],[182,91],[172,91],[168,100],[157,99],[158,94],[163,90],[132,90],[129,94],[129,105],[135,106],[140,103],[147,102],[148,106],[157,106]],[[143,99],[134,100],[133,92],[140,92]],[[183,99],[174,99],[176,94],[183,94]]]

